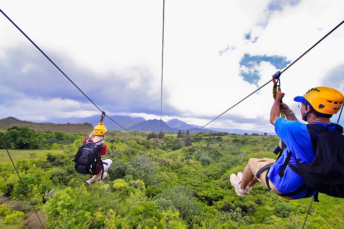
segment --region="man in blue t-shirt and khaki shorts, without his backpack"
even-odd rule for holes
[[[342,138],[342,127],[330,122],[330,118],[340,110],[344,101],[343,95],[338,90],[316,87],[303,96],[294,98],[294,101],[301,103],[299,108],[302,120],[312,125],[299,122],[294,112],[281,102],[283,97],[284,93],[277,91],[270,112],[270,123],[275,126],[277,135],[286,146],[284,154],[277,161],[268,158],[251,158],[243,173],[232,174],[230,182],[240,197],[249,194],[251,187],[258,181],[285,199],[314,196],[318,190],[305,185],[306,179],[302,178],[298,170],[302,163],[312,163],[315,159],[317,145],[314,144],[314,137],[310,135],[312,130],[309,126],[320,126],[329,130],[328,132],[334,132],[333,130],[340,127],[339,138]],[[284,109],[286,119],[279,117],[280,108]],[[315,132],[315,138],[317,135],[319,136],[319,133]]]

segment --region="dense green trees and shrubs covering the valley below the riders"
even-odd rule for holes
[[[276,157],[271,153],[278,144],[275,136],[197,133],[189,138],[191,145],[171,149],[182,136],[165,133],[147,140],[149,133],[123,138],[119,131],[110,132],[104,157],[113,160],[108,177],[87,187],[90,176],[75,173],[72,161],[86,136],[15,127],[4,133],[11,148],[23,146],[10,138],[19,129],[40,136],[38,148],[51,149],[55,143],[63,148],[16,162],[47,228],[300,228],[311,202],[282,199],[260,183],[243,198],[231,187],[230,174],[242,171],[249,158]],[[18,225],[39,227],[9,163],[0,164],[0,193],[0,226],[24,220]],[[305,228],[343,228],[344,200],[319,199]]]

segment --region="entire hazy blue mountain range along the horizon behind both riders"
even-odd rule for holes
[[[178,130],[189,130],[190,133],[193,132],[228,132],[228,133],[236,133],[239,135],[243,135],[244,133],[248,133],[251,135],[252,133],[258,133],[259,135],[263,135],[264,132],[255,131],[255,130],[244,130],[244,129],[230,129],[230,128],[202,128],[202,126],[192,125],[180,121],[178,119],[172,119],[167,122],[153,119],[153,120],[146,120],[142,117],[132,118],[130,116],[110,116],[111,119],[116,121],[126,130],[137,130],[137,131],[153,131],[153,132],[160,132],[160,125],[161,131],[163,132],[178,132]],[[98,125],[100,120],[100,116],[91,116],[87,118],[63,118],[63,119],[49,119],[45,122],[47,123],[90,123],[93,126]],[[104,124],[106,128],[109,130],[123,130],[118,124],[113,122],[112,120],[108,119],[107,117],[104,118]],[[199,131],[198,131],[199,130]],[[275,133],[268,133],[269,135],[275,135]]]

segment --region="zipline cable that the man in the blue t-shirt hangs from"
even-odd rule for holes
[[[317,43],[315,43],[311,48],[309,48],[307,51],[305,51],[302,55],[299,56],[298,59],[296,59],[291,65],[289,65],[288,67],[286,67],[283,71],[281,71],[281,74],[287,70],[289,67],[291,67],[293,64],[295,64],[298,60],[300,60],[302,58],[302,56],[304,56],[307,52],[311,51],[311,49],[313,49],[315,46],[317,46],[322,40],[325,39],[325,37],[327,37],[328,35],[330,35],[333,31],[335,31],[339,26],[341,26],[344,23],[344,20],[339,23],[336,27],[334,27],[330,32],[328,32],[326,35],[324,35]],[[226,111],[224,111],[223,113],[221,113],[218,117],[214,118],[213,120],[211,120],[210,122],[208,122],[207,124],[205,124],[204,126],[202,126],[201,128],[197,129],[195,132],[191,133],[189,136],[187,136],[185,139],[183,139],[182,141],[178,142],[177,144],[175,144],[174,146],[172,146],[169,149],[173,149],[175,146],[179,145],[180,143],[184,142],[186,139],[190,138],[191,135],[194,135],[195,133],[197,133],[198,131],[200,131],[201,129],[203,129],[204,127],[206,127],[208,124],[210,124],[211,122],[213,122],[214,120],[218,119],[219,117],[221,117],[224,113],[226,113],[228,110],[232,109],[233,107],[237,106],[239,103],[241,103],[242,101],[246,100],[248,97],[250,97],[252,94],[256,93],[258,90],[260,90],[261,88],[263,88],[264,86],[266,86],[268,83],[270,83],[273,80],[269,80],[267,83],[265,83],[263,86],[261,86],[260,88],[258,88],[257,90],[255,90],[254,92],[250,93],[248,96],[246,96],[244,99],[240,100],[238,103],[234,104],[233,106],[231,106],[229,109],[227,109]]]

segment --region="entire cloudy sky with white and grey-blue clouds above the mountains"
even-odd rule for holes
[[[0,5],[106,114],[145,119],[160,119],[162,7],[162,0]],[[165,0],[162,120],[205,125],[343,20],[342,0]],[[299,119],[295,96],[315,86],[344,92],[343,42],[344,25],[282,74],[283,101]],[[3,14],[0,78],[0,118],[100,114]],[[273,132],[272,86],[208,127]]]

